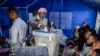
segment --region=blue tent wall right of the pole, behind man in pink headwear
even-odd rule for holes
[[[48,10],[47,18],[56,23],[57,28],[62,29],[69,38],[72,37],[75,26],[87,22],[95,27],[97,9],[82,0],[42,0],[30,6],[29,12],[45,7]]]

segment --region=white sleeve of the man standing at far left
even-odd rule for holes
[[[13,27],[13,29],[11,30],[11,43],[15,44],[17,43],[17,39],[18,39],[18,27]]]

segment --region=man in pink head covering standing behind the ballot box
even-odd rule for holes
[[[48,25],[48,20],[47,18],[45,18],[46,13],[46,8],[40,8],[38,10],[37,17],[34,17],[33,19],[29,20],[29,25],[32,27],[32,30],[44,28]]]

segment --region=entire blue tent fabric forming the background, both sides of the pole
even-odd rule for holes
[[[9,7],[12,5],[20,7],[20,16],[25,21],[28,20],[28,12],[38,10],[40,7],[47,8],[48,12],[46,17],[48,20],[53,21],[57,25],[57,28],[62,29],[64,34],[69,38],[72,37],[74,27],[81,25],[84,21],[92,28],[95,27],[97,9],[82,0],[9,0],[1,7]],[[0,26],[5,24],[9,28],[10,21],[6,15],[6,9],[2,9],[1,7]]]

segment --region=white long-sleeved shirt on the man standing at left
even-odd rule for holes
[[[11,45],[16,50],[21,46],[22,39],[25,38],[27,31],[27,24],[21,19],[17,18],[13,21],[13,25],[10,28]]]

